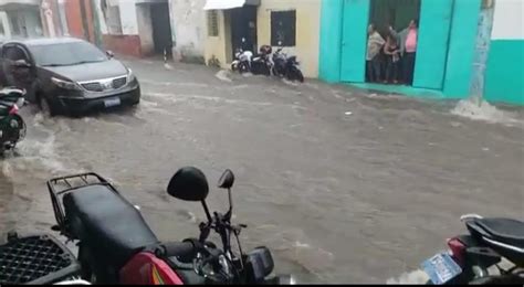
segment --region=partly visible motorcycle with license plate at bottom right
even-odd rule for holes
[[[524,284],[524,222],[476,214],[462,221],[470,234],[448,240],[448,253],[422,263],[428,284]],[[503,258],[510,267],[501,266]]]

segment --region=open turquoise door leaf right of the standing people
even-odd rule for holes
[[[453,0],[422,0],[413,86],[442,89]]]

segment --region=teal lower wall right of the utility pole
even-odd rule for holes
[[[485,72],[484,98],[524,105],[524,40],[493,40]]]

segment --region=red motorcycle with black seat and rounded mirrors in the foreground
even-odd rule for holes
[[[163,243],[132,205],[104,178],[83,173],[48,182],[60,231],[78,246],[82,278],[93,284],[293,284],[291,276],[270,276],[274,263],[266,247],[244,254],[239,234],[245,225],[231,223],[231,188],[234,176],[227,170],[219,188],[228,190],[229,210],[209,212],[206,176],[196,168],[182,168],[170,180],[169,195],[201,202],[207,222],[200,236]],[[222,247],[208,241],[211,232]],[[235,237],[238,253],[231,237]]]

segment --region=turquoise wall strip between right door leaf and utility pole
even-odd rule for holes
[[[443,93],[448,98],[470,94],[481,0],[454,1]]]

